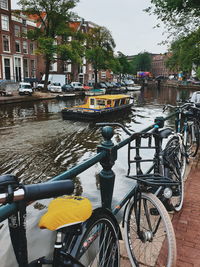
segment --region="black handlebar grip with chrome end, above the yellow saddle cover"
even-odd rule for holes
[[[71,194],[74,191],[74,183],[71,180],[33,185],[21,185],[12,195],[12,201],[8,201],[8,193],[0,193],[0,203],[6,204],[19,200],[34,201],[39,199]],[[10,196],[9,196],[10,198]]]

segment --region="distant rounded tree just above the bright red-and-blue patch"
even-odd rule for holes
[[[131,62],[132,73],[137,74],[137,71],[151,70],[151,56],[148,52],[142,52],[134,56]]]

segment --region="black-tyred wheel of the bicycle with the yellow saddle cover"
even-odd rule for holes
[[[75,258],[84,266],[118,267],[119,242],[116,225],[106,214],[89,219]]]

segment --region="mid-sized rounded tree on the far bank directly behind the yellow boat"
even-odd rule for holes
[[[115,42],[105,27],[91,28],[87,34],[86,58],[94,69],[95,86],[98,71],[107,69],[113,60]]]

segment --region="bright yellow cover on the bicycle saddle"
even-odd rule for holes
[[[89,199],[79,196],[63,196],[52,200],[48,211],[40,218],[39,227],[51,231],[86,221],[92,214]]]

